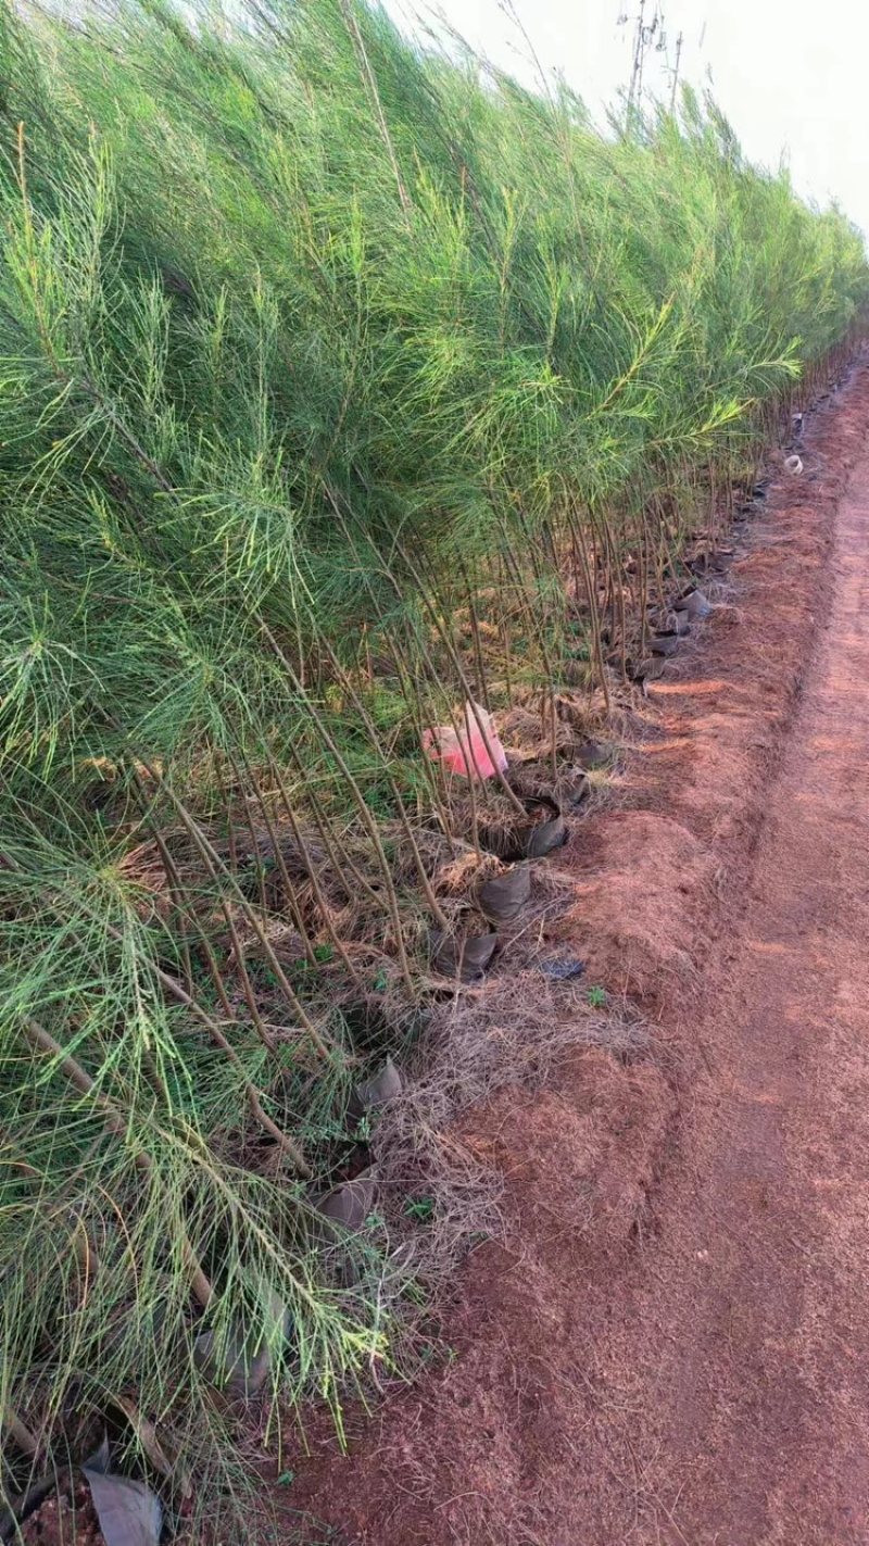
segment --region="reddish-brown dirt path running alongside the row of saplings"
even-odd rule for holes
[[[653,1053],[476,1113],[509,1238],[456,1362],[303,1467],[340,1540],[869,1541],[866,425],[861,360],[566,850],[564,931]]]

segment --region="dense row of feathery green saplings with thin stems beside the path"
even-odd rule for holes
[[[867,289],[713,104],[608,138],[356,0],[233,9],[0,11],[0,1411],[59,1453],[136,1391],[212,1521],[196,1326],[277,1296],[271,1384],[339,1421],[385,1348],[303,1172],[360,866],[359,971],[416,991],[424,731],[564,642],[605,680],[614,577],[663,583]]]

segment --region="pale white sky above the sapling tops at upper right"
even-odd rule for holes
[[[408,25],[413,0],[387,0]],[[561,70],[597,116],[631,74],[639,0],[441,0],[447,20],[526,83],[535,65]],[[654,14],[646,0],[646,19]],[[648,83],[668,96],[666,59],[683,32],[682,74],[708,83],[753,161],[784,152],[799,193],[837,198],[869,233],[869,6],[866,0],[663,0],[666,56],[648,56]],[[430,12],[428,12],[430,14]],[[629,22],[617,25],[628,14]]]

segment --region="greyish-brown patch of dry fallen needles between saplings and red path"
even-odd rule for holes
[[[396,1248],[413,1252],[428,1296],[450,1285],[475,1238],[503,1231],[501,1177],[462,1136],[475,1107],[510,1085],[541,1087],[578,1048],[636,1057],[649,1045],[628,1005],[594,1010],[581,977],[555,982],[543,971],[547,957],[563,954],[546,948],[546,921],[571,892],[557,870],[535,873],[533,904],[513,926],[504,965],[482,985],[431,1005],[404,1068],[405,1088],[377,1116],[380,1207]]]

